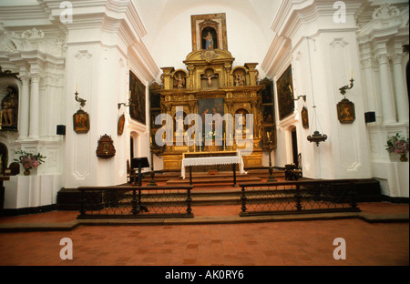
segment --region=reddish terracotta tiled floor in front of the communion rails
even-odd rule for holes
[[[360,204],[373,214],[408,213],[408,205]],[[237,214],[237,206],[197,207],[196,216]],[[0,218],[67,222],[77,212]],[[73,259],[60,259],[61,238],[71,238]],[[344,238],[346,259],[333,259]],[[135,266],[408,266],[409,226],[360,219],[180,226],[92,226],[70,231],[0,233],[0,265]]]

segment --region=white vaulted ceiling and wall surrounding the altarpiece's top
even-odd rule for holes
[[[183,67],[191,50],[190,15],[226,13],[228,49],[238,65],[261,63],[282,0],[133,0],[147,29],[143,41],[159,67]]]

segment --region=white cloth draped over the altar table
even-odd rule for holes
[[[231,165],[239,164],[241,175],[246,174],[243,168],[243,158],[238,153],[237,156],[230,157],[186,157],[182,159],[180,174],[185,179],[185,167],[190,166],[214,166],[214,165]]]

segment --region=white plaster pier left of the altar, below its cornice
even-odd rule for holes
[[[67,52],[67,153],[65,187],[108,186],[127,180],[127,136],[118,136],[118,118],[124,109],[118,103],[128,99],[126,58],[116,47],[95,45],[69,46]],[[79,103],[74,99],[75,86],[90,117],[87,134],[73,129],[73,114]],[[97,157],[97,141],[108,135],[116,147],[109,159]]]

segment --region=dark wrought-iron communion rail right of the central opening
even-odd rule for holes
[[[360,212],[358,179],[243,183],[241,217],[287,213]]]

